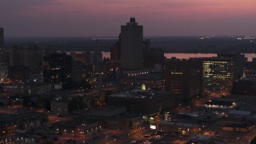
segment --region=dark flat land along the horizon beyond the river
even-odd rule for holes
[[[256,37],[203,37],[201,36],[145,36],[150,38],[150,47],[160,48],[166,53],[184,54],[217,54],[219,52],[238,51],[241,53],[256,53]],[[93,51],[96,38],[102,51],[110,51],[117,37],[70,37],[70,38],[5,38],[6,49],[14,45],[46,46],[62,51]],[[102,39],[103,38],[103,39]]]

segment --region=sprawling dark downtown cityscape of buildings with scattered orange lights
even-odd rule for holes
[[[239,99],[219,96],[256,94],[253,84],[234,88],[256,79],[256,62],[246,62],[243,54],[167,59],[162,49],[151,48],[150,44],[150,38],[143,38],[143,26],[135,18],[121,26],[118,42],[110,47],[110,58],[102,58],[98,39],[94,51],[70,54],[50,46],[7,49],[0,28],[0,142],[37,143],[44,137],[77,138],[102,130],[139,131],[145,127],[154,130],[154,140],[162,137],[156,132],[164,130],[166,134],[191,136],[190,140],[196,141],[196,134],[226,117],[227,111],[206,114],[206,110],[197,110],[197,114],[192,114],[182,110],[214,96],[218,98],[203,102],[202,106],[230,110],[242,106]],[[18,113],[15,117],[12,109]],[[242,122],[235,121],[236,127],[230,117],[223,130],[241,131],[246,126],[242,130],[251,131],[253,114],[229,113],[233,117],[245,114],[250,123],[238,118]],[[28,114],[31,118],[26,118]],[[50,134],[40,136],[42,126]],[[201,137],[202,142],[210,139]],[[105,138],[106,142],[115,140]]]

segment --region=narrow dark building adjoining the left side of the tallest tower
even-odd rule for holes
[[[110,49],[110,60],[119,61],[121,59],[121,35],[119,34],[118,42],[115,42],[114,46]]]

